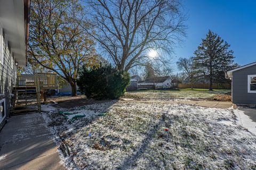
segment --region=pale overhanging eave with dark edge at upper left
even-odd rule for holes
[[[26,65],[29,0],[0,0],[0,24],[14,60]]]

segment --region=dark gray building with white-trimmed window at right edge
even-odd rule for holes
[[[256,62],[227,72],[232,80],[234,104],[256,104]]]

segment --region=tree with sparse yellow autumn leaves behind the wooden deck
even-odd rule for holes
[[[31,1],[29,60],[70,83],[73,96],[77,95],[78,70],[100,61],[86,32],[92,28],[84,18],[83,7],[75,0]]]

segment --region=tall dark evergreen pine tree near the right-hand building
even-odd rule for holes
[[[223,79],[223,72],[230,70],[234,62],[233,50],[229,50],[229,47],[230,45],[217,33],[209,30],[206,38],[202,39],[202,43],[194,52],[197,68],[209,78],[209,90],[212,90],[213,82]]]

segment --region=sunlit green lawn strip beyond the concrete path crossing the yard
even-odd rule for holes
[[[171,89],[171,90],[137,90],[126,92],[124,98],[134,98],[135,100],[173,100],[173,99],[204,99],[213,100],[214,97],[228,97],[225,95],[231,90],[225,89]]]

